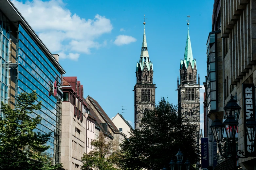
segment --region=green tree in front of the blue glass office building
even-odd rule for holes
[[[17,97],[15,110],[9,104],[1,103],[4,118],[0,117],[0,169],[55,170],[62,167],[62,164],[51,166],[41,155],[49,148],[46,142],[51,133],[34,132],[42,120],[40,115],[35,116],[33,113],[33,110],[39,110],[42,106],[41,101],[35,104],[36,99],[35,91],[21,93]]]

